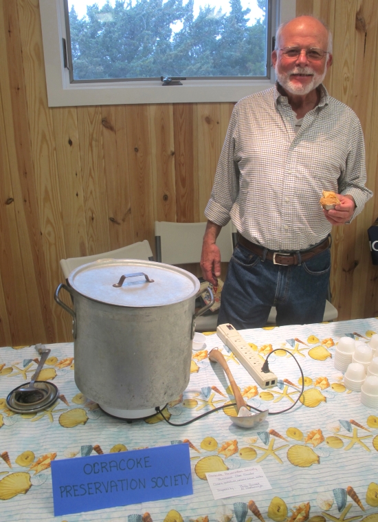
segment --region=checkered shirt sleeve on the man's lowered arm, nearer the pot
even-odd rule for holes
[[[238,104],[232,111],[227,135],[214,178],[214,185],[205,216],[216,225],[225,226],[230,221],[230,211],[239,192],[239,169],[235,161]]]

